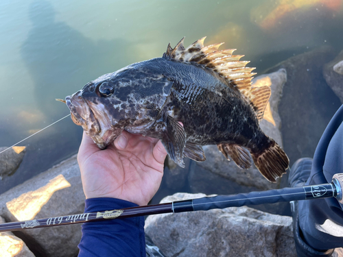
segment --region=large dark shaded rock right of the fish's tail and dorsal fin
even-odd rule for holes
[[[333,49],[320,47],[265,71],[287,71],[279,115],[283,149],[290,164],[298,158],[314,156],[322,132],[341,105],[322,76],[322,67],[332,58]]]

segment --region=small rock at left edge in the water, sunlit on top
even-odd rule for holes
[[[0,147],[0,152],[8,147]],[[12,147],[0,154],[0,180],[12,175],[19,168],[24,158],[26,147]]]

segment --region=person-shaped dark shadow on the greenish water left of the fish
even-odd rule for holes
[[[21,48],[21,56],[34,79],[34,94],[42,112],[60,118],[55,98],[65,97],[91,79],[121,67],[128,60],[124,40],[93,42],[66,23],[55,19],[48,1],[35,1],[29,7],[32,29]],[[113,55],[115,53],[115,55]],[[115,58],[113,58],[115,56]],[[66,91],[68,86],[70,90]]]

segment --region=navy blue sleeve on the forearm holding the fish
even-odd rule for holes
[[[115,198],[86,199],[84,212],[98,212],[137,206]],[[82,225],[78,245],[80,257],[141,256],[145,257],[144,217],[108,219]]]

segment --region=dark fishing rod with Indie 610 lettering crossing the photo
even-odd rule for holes
[[[245,205],[274,204],[279,201],[298,201],[335,197],[343,204],[342,199],[343,173],[333,175],[331,183],[295,188],[281,188],[268,191],[238,193],[235,195],[217,195],[183,201],[173,201],[167,204],[137,206],[104,212],[88,212],[78,215],[67,215],[47,219],[34,219],[0,224],[0,232],[45,228],[55,225],[68,225],[106,219],[128,218],[145,215],[156,215],[169,212],[192,212],[198,210],[223,209]]]

